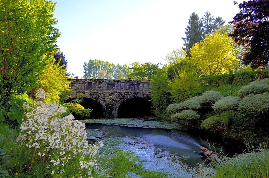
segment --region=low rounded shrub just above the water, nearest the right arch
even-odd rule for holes
[[[200,115],[193,110],[183,110],[180,113],[176,113],[171,116],[171,120],[181,123],[186,126],[193,127],[194,123],[197,123]]]

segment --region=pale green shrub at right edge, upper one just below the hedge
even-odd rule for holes
[[[251,82],[238,91],[238,96],[244,98],[249,94],[261,94],[264,92],[269,92],[269,79]]]

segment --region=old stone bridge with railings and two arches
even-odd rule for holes
[[[84,93],[82,105],[86,106],[85,108],[94,108],[96,105],[100,105],[102,109],[98,112],[103,112],[103,116],[106,118],[117,118],[119,108],[124,107],[128,100],[140,98],[149,103],[151,85],[149,80],[130,79],[72,79],[72,83],[70,83],[70,87],[73,89],[72,97],[76,97],[78,93]],[[95,104],[89,106],[93,102],[92,100],[95,101]],[[142,101],[139,102],[136,106],[141,104],[140,107],[144,107]]]

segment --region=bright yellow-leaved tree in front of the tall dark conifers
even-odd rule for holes
[[[191,48],[191,63],[197,65],[203,75],[232,73],[238,66],[236,45],[228,34],[213,32]]]

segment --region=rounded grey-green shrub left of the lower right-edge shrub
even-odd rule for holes
[[[213,104],[212,108],[215,112],[234,111],[237,109],[239,97],[227,96]]]

